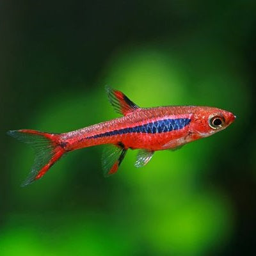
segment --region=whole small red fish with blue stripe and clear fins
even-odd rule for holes
[[[121,117],[65,133],[31,129],[7,132],[35,150],[34,164],[22,186],[42,178],[62,156],[79,148],[106,145],[102,169],[108,177],[117,172],[129,148],[138,150],[134,165],[139,168],[152,159],[155,151],[176,150],[222,131],[236,119],[231,112],[208,106],[140,108],[109,86],[106,93]]]

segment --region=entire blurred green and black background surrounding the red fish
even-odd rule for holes
[[[0,255],[255,255],[255,1],[1,1]],[[203,105],[227,130],[104,179],[102,147],[26,188],[10,129],[66,132],[141,107]]]

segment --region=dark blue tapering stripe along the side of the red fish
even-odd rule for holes
[[[148,124],[138,125],[134,127],[123,128],[115,131],[104,132],[96,134],[86,139],[95,139],[100,137],[108,137],[117,134],[127,134],[127,133],[161,133],[161,132],[171,132],[173,130],[179,130],[184,128],[190,123],[189,118],[176,118],[176,119],[164,119],[156,122],[151,122]]]

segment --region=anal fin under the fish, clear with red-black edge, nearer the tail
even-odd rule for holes
[[[102,169],[104,177],[108,177],[117,172],[122,163],[127,150],[116,145],[106,145],[102,154]]]

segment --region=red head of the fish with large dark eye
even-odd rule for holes
[[[198,107],[193,115],[193,130],[201,138],[226,129],[236,116],[223,109],[211,107]]]

